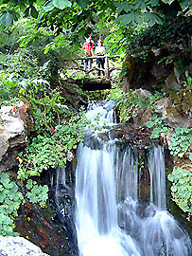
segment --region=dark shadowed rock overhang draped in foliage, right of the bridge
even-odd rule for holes
[[[179,17],[163,26],[148,28],[131,44],[123,64],[129,88],[180,90],[184,71],[188,70],[192,76],[191,36],[191,17]]]

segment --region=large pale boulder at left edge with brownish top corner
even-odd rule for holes
[[[27,142],[28,106],[22,101],[0,108],[0,172],[18,164],[17,154]]]

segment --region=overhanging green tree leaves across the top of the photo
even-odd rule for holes
[[[60,36],[60,44],[67,39],[77,48],[80,37],[94,32],[96,17],[105,23],[135,26],[145,22],[153,26],[192,9],[188,0],[2,0],[0,3],[1,28],[9,27],[20,16],[33,19],[34,34],[27,38],[27,44],[41,36],[40,27],[48,27],[54,31],[55,38]]]

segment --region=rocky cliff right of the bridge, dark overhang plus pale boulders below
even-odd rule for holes
[[[192,18],[179,16],[164,25],[155,25],[131,43],[123,64],[123,89],[166,92],[166,97],[156,101],[154,109],[140,111],[133,117],[134,127],[145,125],[155,114],[166,126],[192,128]],[[185,73],[187,71],[187,74]],[[187,86],[186,86],[187,85]],[[149,97],[149,96],[148,96]],[[169,145],[171,132],[161,134]],[[188,154],[192,148],[188,149]],[[181,166],[181,159],[173,159]],[[185,162],[182,158],[183,164]]]

